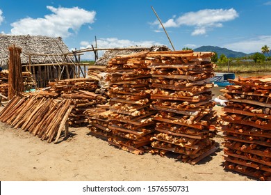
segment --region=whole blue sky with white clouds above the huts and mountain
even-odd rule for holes
[[[176,50],[202,45],[238,52],[271,47],[268,0],[0,0],[0,32],[61,36],[69,49],[167,45],[154,7]]]

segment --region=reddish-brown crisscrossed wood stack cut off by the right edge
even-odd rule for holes
[[[271,79],[239,77],[221,90],[224,107],[224,167],[271,180]]]

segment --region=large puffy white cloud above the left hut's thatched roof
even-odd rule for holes
[[[10,24],[13,26],[13,35],[41,35],[67,38],[71,36],[70,30],[77,32],[83,24],[95,22],[95,11],[82,8],[54,8],[47,6],[52,14],[42,18],[26,17]]]

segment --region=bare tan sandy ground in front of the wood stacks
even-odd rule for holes
[[[88,135],[88,128],[70,128],[72,137],[58,144],[0,123],[0,180],[146,181],[253,180],[223,169],[221,137],[217,153],[192,166],[172,157],[134,155]]]

